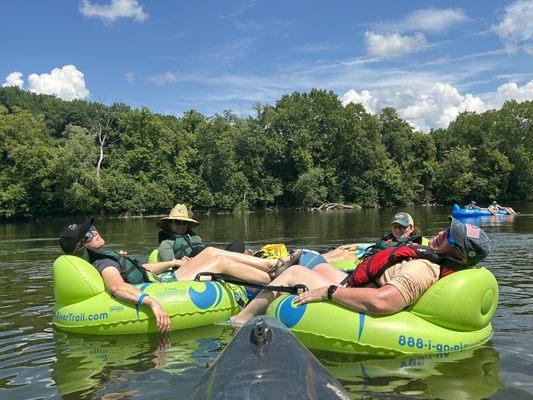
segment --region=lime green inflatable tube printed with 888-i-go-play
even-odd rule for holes
[[[492,337],[498,284],[485,268],[451,274],[414,305],[393,315],[358,313],[329,302],[292,304],[281,296],[267,315],[311,349],[348,354],[437,354],[479,346]]]

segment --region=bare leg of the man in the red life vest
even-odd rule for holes
[[[317,265],[317,268],[322,265]],[[331,267],[331,266],[330,266]],[[340,272],[334,267],[331,267],[335,272]],[[302,265],[294,265],[291,268],[284,271],[280,276],[274,279],[271,282],[271,285],[275,286],[294,286],[297,283],[306,285],[309,290],[316,288],[334,285],[339,283],[339,280],[336,280],[335,277],[330,278],[327,276],[326,268],[322,268],[322,273],[317,273],[315,270],[310,270]],[[346,277],[346,274],[344,274]],[[344,279],[344,278],[343,278]],[[269,304],[279,296],[279,292],[274,292],[270,290],[263,290],[253,299],[250,304],[246,306],[239,314],[234,317],[234,320],[237,324],[245,324],[249,319],[255,317],[256,315],[264,314]]]

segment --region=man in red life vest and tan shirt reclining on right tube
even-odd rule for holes
[[[329,300],[369,314],[393,314],[415,303],[439,278],[476,265],[490,252],[490,240],[481,228],[450,220],[450,227],[431,238],[427,247],[381,250],[350,275],[329,264],[313,270],[295,265],[271,285],[306,285],[310,291],[296,296],[296,305]],[[233,321],[240,325],[263,314],[278,295],[263,290]]]

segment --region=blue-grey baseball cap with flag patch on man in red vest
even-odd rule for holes
[[[448,241],[452,246],[460,247],[460,253],[465,257],[467,265],[476,265],[490,253],[490,239],[485,231],[475,225],[463,224],[453,217],[449,217],[450,230]]]

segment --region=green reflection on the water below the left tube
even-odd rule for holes
[[[131,389],[139,375],[148,371],[153,381],[154,370],[185,375],[188,370],[207,367],[232,335],[231,327],[216,325],[166,335],[101,337],[56,332],[52,379],[65,399],[93,397],[96,392],[120,398],[127,391],[114,391],[112,383],[129,382]],[[143,384],[140,394],[150,390]]]

